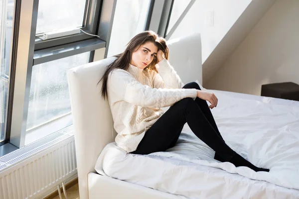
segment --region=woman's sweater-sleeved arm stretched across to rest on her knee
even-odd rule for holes
[[[156,89],[141,84],[125,70],[109,75],[108,89],[121,100],[146,107],[165,107],[184,98],[196,98],[196,89]]]

